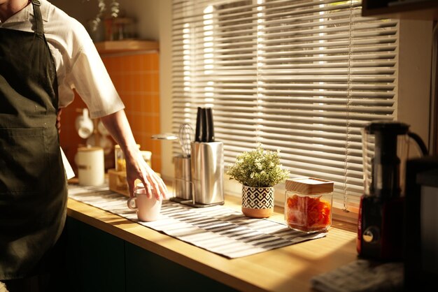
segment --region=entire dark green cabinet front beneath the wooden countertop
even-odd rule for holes
[[[236,291],[71,217],[66,235],[69,292]]]

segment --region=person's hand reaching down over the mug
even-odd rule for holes
[[[134,150],[134,155],[130,157],[125,154],[125,160],[130,197],[134,196],[135,181],[141,180],[146,189],[148,198],[152,198],[153,194],[155,194],[157,200],[164,200],[167,198],[166,184],[164,184],[161,177],[150,168],[148,163],[144,161],[143,156],[141,156],[138,149]],[[153,192],[152,189],[155,189],[155,191]]]

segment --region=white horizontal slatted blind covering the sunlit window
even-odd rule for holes
[[[173,129],[211,106],[225,165],[279,149],[291,177],[332,180],[334,203],[357,207],[360,131],[395,117],[397,38],[361,1],[174,0]]]

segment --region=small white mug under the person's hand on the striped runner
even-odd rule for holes
[[[152,198],[148,198],[146,189],[139,188],[134,191],[134,197],[129,198],[129,209],[137,211],[139,221],[155,221],[160,216],[162,200],[155,197],[155,189],[152,189]]]

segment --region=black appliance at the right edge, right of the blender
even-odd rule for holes
[[[405,201],[405,291],[437,291],[438,156],[407,161]]]

